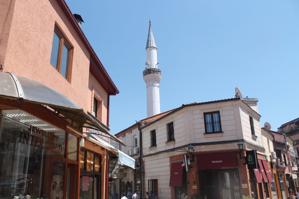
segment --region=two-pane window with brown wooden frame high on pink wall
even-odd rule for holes
[[[50,63],[65,79],[70,79],[73,47],[55,25]]]

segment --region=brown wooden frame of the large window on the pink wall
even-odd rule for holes
[[[72,60],[73,60],[73,46],[70,44],[70,42],[65,38],[64,34],[62,33],[61,30],[59,30],[58,26],[55,25],[54,27],[54,32],[53,34],[55,34],[59,37],[59,49],[58,49],[58,57],[57,57],[57,68],[55,66],[53,66],[50,62],[50,64],[56,68],[56,70],[61,74],[61,62],[62,62],[62,51],[63,51],[63,45],[65,44],[65,46],[67,47],[67,49],[69,50],[69,56],[68,56],[68,70],[67,70],[67,76],[64,77],[64,75],[62,75],[66,80],[70,81],[70,74],[71,74],[71,67],[72,67]],[[53,35],[54,37],[54,35]],[[52,46],[53,46],[53,41],[52,41]],[[52,53],[52,51],[51,51]]]

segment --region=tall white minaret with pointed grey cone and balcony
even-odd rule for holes
[[[151,25],[149,27],[145,51],[146,68],[143,71],[143,80],[146,83],[147,117],[151,117],[160,113],[159,83],[162,74],[161,70],[158,69],[157,46]]]

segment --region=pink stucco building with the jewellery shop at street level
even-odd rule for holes
[[[64,0],[0,7],[0,198],[107,198],[118,89]]]

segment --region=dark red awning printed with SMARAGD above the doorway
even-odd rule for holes
[[[237,166],[236,153],[217,153],[197,156],[198,170],[235,169]]]

